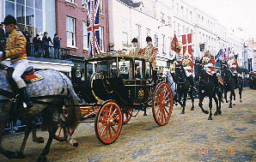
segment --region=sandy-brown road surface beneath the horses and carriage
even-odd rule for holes
[[[236,91],[236,95],[238,92]],[[188,101],[186,113],[181,115],[180,106],[174,111],[166,126],[156,125],[151,110],[143,117],[140,112],[131,118],[112,145],[104,146],[94,134],[93,123],[81,123],[76,129],[78,147],[53,141],[49,161],[253,161],[256,148],[256,91],[245,88],[243,102],[232,109],[222,104],[222,115],[207,120],[198,108],[190,111]],[[207,110],[208,99],[204,99]],[[46,140],[47,133],[39,135]],[[7,135],[3,146],[15,150],[21,145],[23,135]],[[27,159],[0,161],[36,161],[45,144],[35,144],[28,139],[25,154]]]

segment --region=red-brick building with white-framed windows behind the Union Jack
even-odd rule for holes
[[[88,0],[56,0],[56,32],[61,46],[70,48],[74,62],[72,76],[77,73],[77,66],[84,69],[83,58],[88,56],[88,37],[86,27],[85,3]],[[100,0],[100,48],[101,52],[109,51],[108,3]],[[79,68],[80,69],[80,68]]]

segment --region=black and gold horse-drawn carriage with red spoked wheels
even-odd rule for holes
[[[95,134],[103,144],[117,140],[122,126],[136,117],[133,110],[146,115],[147,107],[152,106],[155,123],[168,123],[173,110],[171,89],[167,82],[157,79],[149,59],[122,53],[88,58],[84,75],[85,81],[74,83],[85,103],[81,106],[81,123],[94,123]],[[70,135],[73,132],[70,130]],[[61,127],[55,139],[64,141]]]

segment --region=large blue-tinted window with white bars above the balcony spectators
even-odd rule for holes
[[[28,32],[43,33],[42,0],[5,0],[5,15],[13,15],[21,31],[28,27]]]

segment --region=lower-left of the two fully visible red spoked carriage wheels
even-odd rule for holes
[[[108,145],[116,141],[122,129],[123,117],[119,105],[105,102],[99,109],[94,123],[95,133],[101,143]]]

